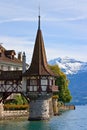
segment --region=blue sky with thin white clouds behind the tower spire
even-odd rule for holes
[[[31,62],[39,5],[47,59],[87,61],[87,0],[0,0],[0,43]]]

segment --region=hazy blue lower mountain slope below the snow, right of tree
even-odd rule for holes
[[[73,104],[87,104],[87,72],[68,75]]]

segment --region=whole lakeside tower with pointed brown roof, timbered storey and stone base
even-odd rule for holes
[[[40,29],[40,16],[38,18],[38,30],[31,65],[23,74],[26,77],[26,91],[30,99],[29,120],[45,120],[53,115],[52,87],[55,86],[55,75],[47,64]]]

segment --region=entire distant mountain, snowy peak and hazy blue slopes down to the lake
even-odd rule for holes
[[[69,89],[72,95],[71,104],[87,104],[87,62],[73,58],[56,58],[49,61],[49,64],[57,64],[67,75]]]

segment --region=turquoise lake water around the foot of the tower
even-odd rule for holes
[[[87,130],[87,105],[64,112],[50,121],[1,121],[0,130]]]

